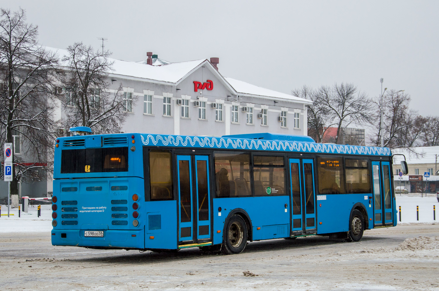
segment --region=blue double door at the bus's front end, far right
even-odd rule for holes
[[[390,163],[372,161],[374,185],[374,226],[393,225],[393,198],[390,183]]]

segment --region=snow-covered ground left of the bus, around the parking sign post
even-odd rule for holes
[[[52,205],[41,205],[41,216],[38,217],[38,205],[29,205],[29,212],[21,211],[18,217],[18,208],[11,208],[7,217],[7,205],[1,206],[0,232],[50,232],[52,230]]]

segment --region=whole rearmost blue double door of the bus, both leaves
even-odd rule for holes
[[[209,241],[210,185],[209,157],[177,155],[179,200],[179,242]]]

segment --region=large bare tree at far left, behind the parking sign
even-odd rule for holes
[[[39,46],[37,37],[38,27],[26,23],[23,9],[0,9],[0,138],[22,152],[14,155],[13,195],[19,181],[43,179],[52,165],[58,57]]]

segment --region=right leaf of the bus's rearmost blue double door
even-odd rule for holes
[[[197,239],[210,238],[209,157],[195,156]]]

